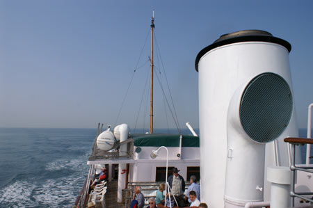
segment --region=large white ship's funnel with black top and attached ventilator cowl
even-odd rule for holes
[[[280,165],[289,166],[287,145],[282,140],[286,136],[298,136],[289,68],[290,49],[288,42],[273,37],[271,33],[239,31],[222,35],[212,45],[202,49],[196,58],[195,67],[199,72],[201,201],[208,202],[212,208],[244,207],[245,202],[262,201],[264,195],[269,195],[264,193],[269,191],[269,186],[264,190],[264,169],[273,165],[273,139],[278,140]],[[275,138],[256,142],[248,133],[257,131],[257,128],[249,130],[249,120],[246,129],[243,128],[241,102],[248,84],[264,73],[281,77],[282,83],[287,83],[287,88],[291,90],[291,106],[288,103],[289,119],[282,126],[262,118],[262,113],[258,115],[260,129],[266,122],[273,122],[269,127],[276,125],[279,130]],[[264,83],[257,88],[262,91],[266,88]],[[265,96],[266,90],[262,92],[260,96]],[[253,99],[249,102],[253,109]],[[275,111],[271,106],[264,108],[264,111]]]

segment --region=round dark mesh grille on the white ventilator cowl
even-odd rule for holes
[[[243,92],[240,120],[243,129],[258,143],[278,138],[292,113],[289,85],[278,74],[264,73],[252,79]]]

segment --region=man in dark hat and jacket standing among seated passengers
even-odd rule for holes
[[[180,170],[177,168],[172,168],[172,175],[168,177],[168,184],[172,190],[172,195],[174,195],[178,207],[184,207],[184,191],[185,191],[185,180],[178,174]]]

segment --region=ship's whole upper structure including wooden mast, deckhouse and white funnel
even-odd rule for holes
[[[130,134],[126,124],[102,132],[98,125],[77,205],[127,207],[136,185],[145,187],[147,198],[154,197],[157,185],[176,167],[186,181],[191,175],[200,178],[201,201],[211,208],[312,206],[313,166],[300,165],[298,145],[313,142],[310,134],[307,140],[298,138],[290,51],[289,42],[259,30],[222,35],[202,49],[195,60],[200,137],[181,131],[152,134],[152,86],[149,133]],[[153,83],[153,49],[150,61]],[[108,190],[117,179],[116,197],[93,200],[90,181],[102,166],[109,170]]]

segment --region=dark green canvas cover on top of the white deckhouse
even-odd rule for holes
[[[179,134],[131,134],[136,147],[179,147]],[[182,147],[199,147],[198,136],[182,136]]]

